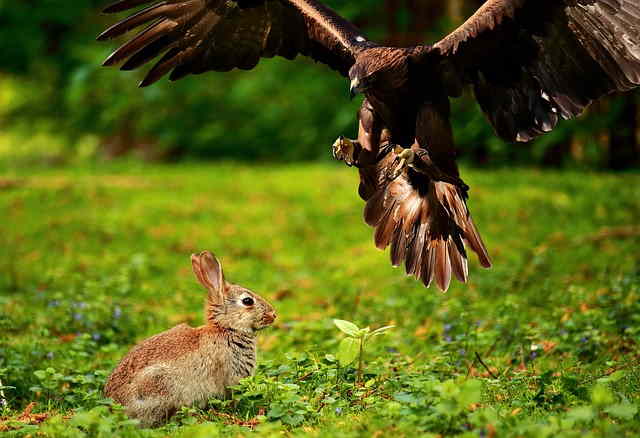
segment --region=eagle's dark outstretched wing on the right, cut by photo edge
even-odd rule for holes
[[[640,84],[640,1],[487,0],[419,53],[446,83],[473,84],[500,137],[528,141]]]

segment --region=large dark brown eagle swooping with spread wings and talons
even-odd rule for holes
[[[98,40],[145,26],[104,62],[156,60],[142,87],[304,55],[344,76],[352,98],[364,94],[357,138],[338,137],[333,155],[359,171],[376,246],[443,291],[453,276],[467,281],[468,248],[491,266],[456,165],[450,99],[471,88],[515,143],[640,84],[640,0],[487,0],[440,41],[412,47],[377,44],[317,0],[120,0],[104,12],[132,9]]]

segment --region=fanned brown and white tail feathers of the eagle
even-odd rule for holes
[[[408,275],[425,286],[435,280],[446,291],[455,276],[466,282],[469,267],[465,244],[480,264],[491,261],[467,209],[466,192],[443,181],[407,170],[398,178],[378,186],[367,200],[364,217],[376,228],[375,243],[380,249],[391,245],[391,263],[404,262]]]

